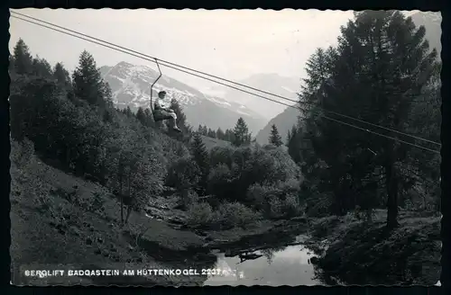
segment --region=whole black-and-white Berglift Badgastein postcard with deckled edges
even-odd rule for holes
[[[10,13],[12,284],[440,286],[440,13]]]

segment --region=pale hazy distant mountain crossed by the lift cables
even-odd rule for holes
[[[282,97],[287,97],[294,101],[298,100],[298,95],[296,93],[299,91],[300,82],[299,79],[296,78],[279,76],[278,74],[257,74],[236,82],[242,85],[251,86],[255,89],[260,89],[270,94],[281,95]],[[293,102],[283,100],[280,97],[275,97],[270,94],[257,93],[252,89],[244,88],[240,85],[235,86],[248,92],[268,97],[274,101],[289,105],[293,104]],[[244,104],[249,109],[252,109],[254,112],[260,114],[266,120],[270,120],[287,108],[286,105],[274,103],[272,101],[265,100],[262,97],[246,94],[233,88],[212,86],[210,89],[206,89],[205,92],[208,94],[216,94],[221,96],[226,99],[227,102]]]

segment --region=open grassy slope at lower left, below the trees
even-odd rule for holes
[[[170,228],[143,213],[133,212],[129,226],[120,228],[120,206],[104,187],[65,174],[35,157],[25,167],[12,165],[11,174],[11,256],[16,267],[72,264],[106,268],[127,262],[168,268],[179,264],[177,255],[171,255],[171,261],[157,262],[155,257],[168,257],[166,252],[179,253],[204,243],[192,232]],[[68,201],[70,196],[72,201]],[[100,209],[89,209],[96,196]],[[145,228],[143,243],[152,257],[132,238]],[[186,262],[183,265],[186,267]],[[160,277],[158,282],[174,284],[188,278],[171,280]]]

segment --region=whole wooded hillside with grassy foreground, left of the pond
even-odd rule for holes
[[[10,76],[14,265],[177,265],[167,259],[206,243],[195,228],[247,228],[301,212],[299,167],[277,148],[249,147],[242,118],[232,142],[206,147],[176,101],[182,135],[148,109],[117,110],[87,51],[70,75],[19,40]]]

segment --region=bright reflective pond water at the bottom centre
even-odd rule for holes
[[[297,242],[305,237],[297,237]],[[266,248],[227,257],[217,253],[216,269],[204,285],[268,285],[299,286],[321,284],[309,259],[314,255],[302,245]]]

